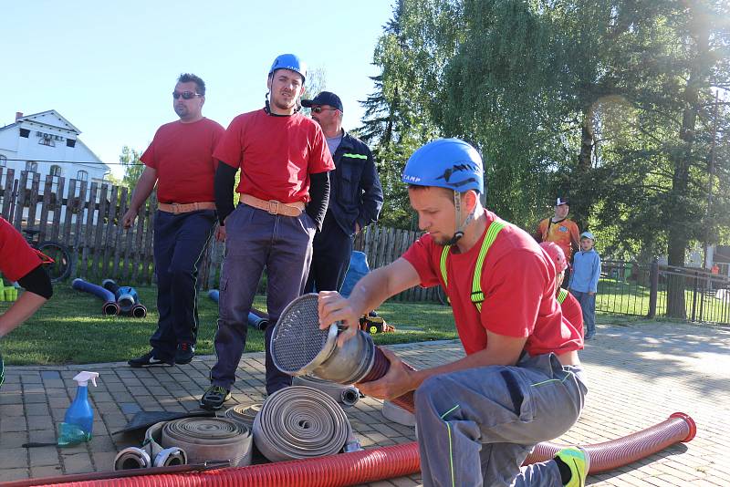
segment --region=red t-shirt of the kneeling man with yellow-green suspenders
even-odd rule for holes
[[[487,224],[497,219],[486,212]],[[485,232],[486,234],[486,232]],[[452,248],[446,263],[446,294],[466,354],[486,347],[486,330],[506,337],[527,337],[531,356],[566,353],[583,347],[579,332],[568,323],[555,299],[555,265],[530,235],[510,223],[497,235],[482,270],[485,301],[481,315],[472,303],[472,279],[485,234],[465,254]],[[421,285],[443,285],[443,247],[425,234],[403,254],[421,277]]]

